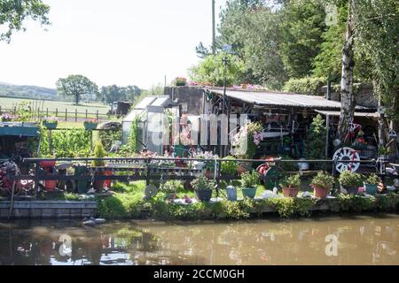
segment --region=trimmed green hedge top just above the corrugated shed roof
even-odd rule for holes
[[[325,86],[324,77],[305,77],[301,79],[290,79],[286,81],[284,90],[309,96],[319,96],[321,88]]]

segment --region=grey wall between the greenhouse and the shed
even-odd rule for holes
[[[170,99],[178,99],[182,106],[182,113],[200,115],[203,113],[203,89],[199,87],[167,87],[164,95]]]

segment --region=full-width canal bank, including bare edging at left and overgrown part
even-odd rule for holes
[[[12,206],[12,208],[11,208]],[[399,195],[338,195],[325,200],[313,197],[243,199],[237,202],[214,198],[210,203],[169,203],[162,193],[145,200],[140,194],[118,194],[88,201],[0,202],[0,218],[152,218],[157,220],[223,220],[270,216],[311,217],[319,214],[397,212]]]

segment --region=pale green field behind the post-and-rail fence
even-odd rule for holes
[[[74,105],[72,102],[64,102],[64,101],[51,101],[51,100],[33,100],[33,99],[21,99],[21,98],[11,98],[11,97],[0,97],[0,106],[2,107],[2,111],[11,110],[14,106],[18,106],[20,103],[26,103],[30,105],[33,110],[37,110],[40,107],[41,111],[56,111],[58,109],[59,113],[65,113],[65,110],[68,112],[74,112],[75,109],[78,112],[85,112],[86,110],[89,113],[98,113],[106,114],[109,110],[109,105],[104,105],[103,103],[82,103],[80,105]]]

